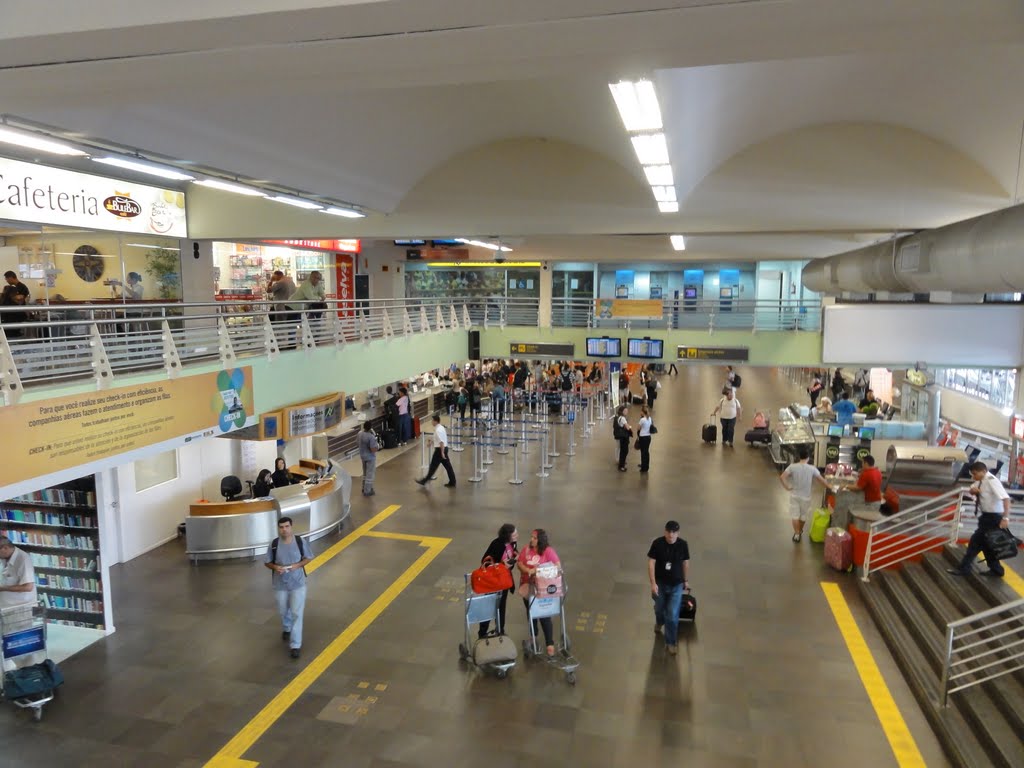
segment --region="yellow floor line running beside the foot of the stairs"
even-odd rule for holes
[[[896,701],[879,671],[879,666],[874,663],[874,657],[853,618],[853,613],[850,612],[850,606],[847,605],[839,585],[822,582],[821,589],[825,593],[836,624],[839,625],[839,631],[843,634],[846,647],[857,668],[857,674],[860,675],[860,682],[867,691],[867,697],[871,700],[879,722],[882,723],[882,730],[889,739],[889,746],[893,751],[896,763],[900,768],[911,766],[925,768],[925,760],[921,757],[910,729],[906,727],[906,722],[896,707]]]

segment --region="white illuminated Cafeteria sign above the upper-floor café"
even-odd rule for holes
[[[0,219],[187,238],[185,194],[0,158]]]

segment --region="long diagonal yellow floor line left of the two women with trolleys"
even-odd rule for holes
[[[423,545],[426,546],[427,551],[420,555],[416,562],[410,565],[354,622],[348,625],[344,632],[331,641],[331,644],[321,651],[319,655],[310,662],[292,682],[270,699],[269,703],[250,720],[230,741],[224,744],[220,752],[206,764],[206,768],[254,768],[254,766],[259,765],[259,763],[252,760],[243,759],[242,756],[252,749],[253,744],[338,659],[338,656],[344,653],[355,639],[384,612],[384,609],[413,583],[413,580],[423,572],[424,568],[440,554],[441,550],[451,541],[451,539],[431,538],[430,544]]]

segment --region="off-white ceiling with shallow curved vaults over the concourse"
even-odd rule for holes
[[[41,5],[4,3],[3,113],[373,212],[335,221],[203,190],[197,207],[216,210],[191,217],[197,237],[812,258],[1024,186],[1017,0]],[[678,214],[652,205],[608,93],[642,77]],[[687,234],[685,254],[668,232]]]

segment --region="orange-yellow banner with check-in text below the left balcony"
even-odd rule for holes
[[[251,368],[0,408],[0,486],[186,435],[255,423]],[[16,435],[16,439],[11,437]]]

